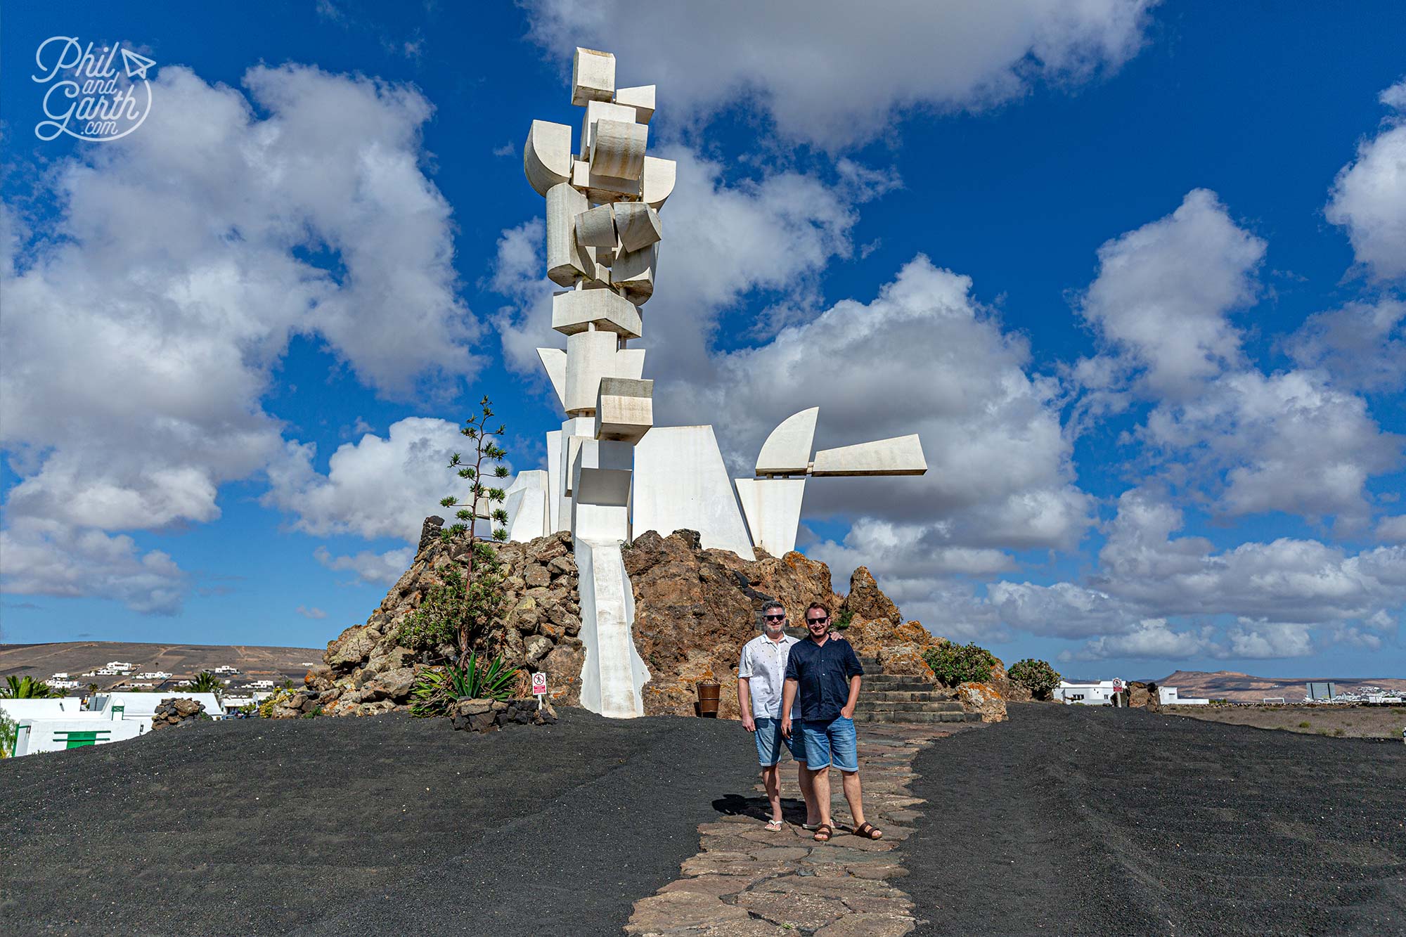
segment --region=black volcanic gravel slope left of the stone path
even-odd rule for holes
[[[735,722],[489,736],[444,720],[231,720],[0,763],[0,933],[619,934],[711,803]]]

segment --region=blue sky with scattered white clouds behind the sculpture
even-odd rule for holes
[[[661,425],[922,435],[811,484],[837,582],[1066,673],[1406,673],[1400,4],[616,7],[7,10],[3,640],[319,646],[472,401],[537,467],[579,44],[679,160]],[[35,136],[55,35],[155,59],[142,127]]]

